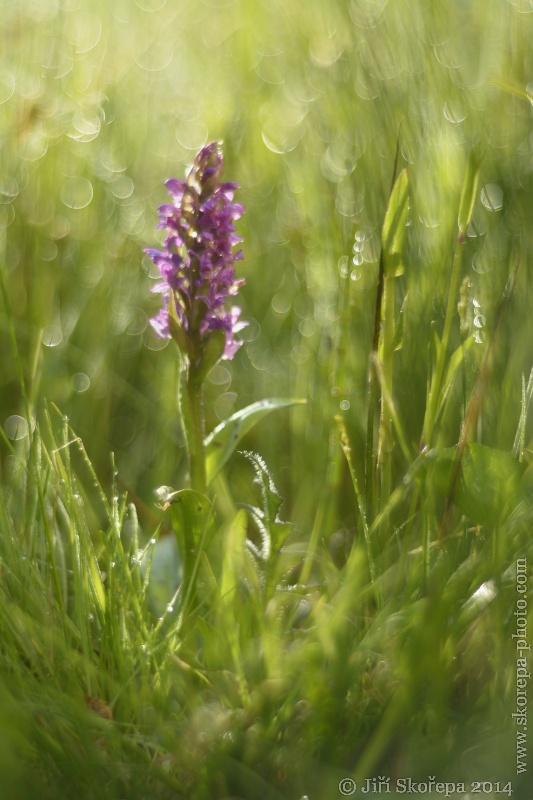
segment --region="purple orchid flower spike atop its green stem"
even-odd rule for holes
[[[242,239],[233,224],[244,208],[233,202],[238,185],[221,183],[223,168],[220,144],[212,142],[200,150],[184,181],[166,182],[172,202],[160,206],[158,225],[167,231],[164,248],[145,251],[161,275],[152,291],[163,298],[150,322],[158,336],[175,339],[195,366],[212,341],[218,342],[215,361],[232,359],[242,344],[235,334],[247,325],[239,319],[240,308],[227,304],[244,283],[235,278],[235,262],[243,256],[234,250]]]

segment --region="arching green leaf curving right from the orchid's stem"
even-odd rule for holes
[[[217,425],[215,430],[205,440],[206,446],[206,474],[209,485],[217,473],[222,469],[230,456],[234,453],[239,442],[254,425],[262,420],[271,411],[277,408],[306,403],[306,400],[297,398],[270,398],[259,400],[246,408],[242,408],[231,417]]]

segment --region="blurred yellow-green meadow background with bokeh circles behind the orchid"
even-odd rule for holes
[[[45,402],[56,404],[102,478],[113,450],[123,487],[149,505],[157,486],[184,483],[177,354],[148,324],[156,276],[143,248],[160,241],[164,180],[183,177],[213,139],[224,142],[225,177],[241,184],[246,206],[238,267],[250,326],[235,360],[211,376],[207,428],[265,396],[309,399],[245,443],[273,466],[296,523],[308,529],[324,486],[331,530],[352,514],[332,420],[343,415],[361,471],[398,136],[412,197],[395,392],[409,441],[420,439],[430,326],[442,324],[459,194],[478,143],[485,157],[464,262],[479,339],[470,367],[475,375],[519,252],[482,438],[510,449],[532,341],[529,0],[3,0],[0,8],[0,258],[24,374],[37,420]],[[1,320],[0,423],[16,436],[20,421],[11,418],[24,410],[3,312]],[[458,403],[443,443],[457,441]],[[234,458],[228,473],[237,486],[242,462]]]

